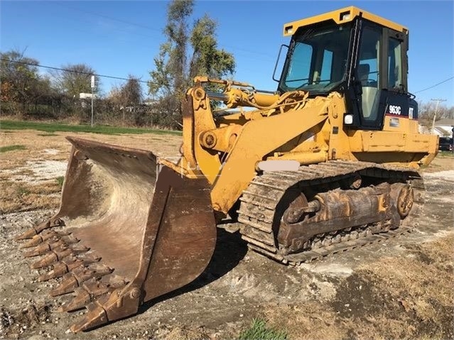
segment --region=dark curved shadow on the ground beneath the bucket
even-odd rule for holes
[[[242,240],[239,231],[229,233],[228,231],[225,231],[225,229],[217,228],[215,252],[202,274],[200,274],[192,283],[188,283],[188,285],[185,285],[178,290],[174,290],[173,292],[161,295],[160,297],[156,297],[156,299],[144,303],[144,305],[139,307],[137,314],[146,312],[147,309],[156,305],[158,302],[197,290],[214,282],[218,278],[222,278],[222,276],[229,273],[230,270],[238,265],[239,261],[246,256],[246,253],[247,243]]]

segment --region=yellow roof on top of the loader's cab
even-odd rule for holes
[[[363,11],[362,9],[358,9],[355,6],[349,6],[343,9],[337,9],[336,11],[319,14],[318,16],[311,16],[310,18],[292,21],[291,23],[286,23],[283,26],[283,35],[284,36],[293,35],[296,31],[298,31],[298,28],[328,20],[333,20],[337,24],[347,23],[349,21],[354,20],[357,16],[360,15],[369,21],[373,21],[374,23],[378,23],[379,25],[391,28],[395,31],[403,33],[408,33],[409,31],[406,27],[401,26],[398,23],[394,23],[385,18],[382,18],[381,16],[376,16],[375,14]]]

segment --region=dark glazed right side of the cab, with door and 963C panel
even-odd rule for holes
[[[382,130],[385,115],[417,118],[407,89],[407,50],[406,33],[364,22],[356,66],[360,128]]]

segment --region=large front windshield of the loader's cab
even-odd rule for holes
[[[294,38],[279,87],[329,92],[345,79],[350,25],[308,28]]]

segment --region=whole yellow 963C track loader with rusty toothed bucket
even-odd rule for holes
[[[41,256],[39,280],[63,276],[52,295],[75,292],[63,311],[87,308],[72,331],[129,317],[195,280],[226,216],[249,248],[292,265],[415,226],[418,168],[438,139],[418,133],[409,31],[347,7],[287,23],[283,35],[276,92],[195,78],[178,163],[67,138],[60,210],[17,239]],[[224,90],[209,91],[213,83]]]

